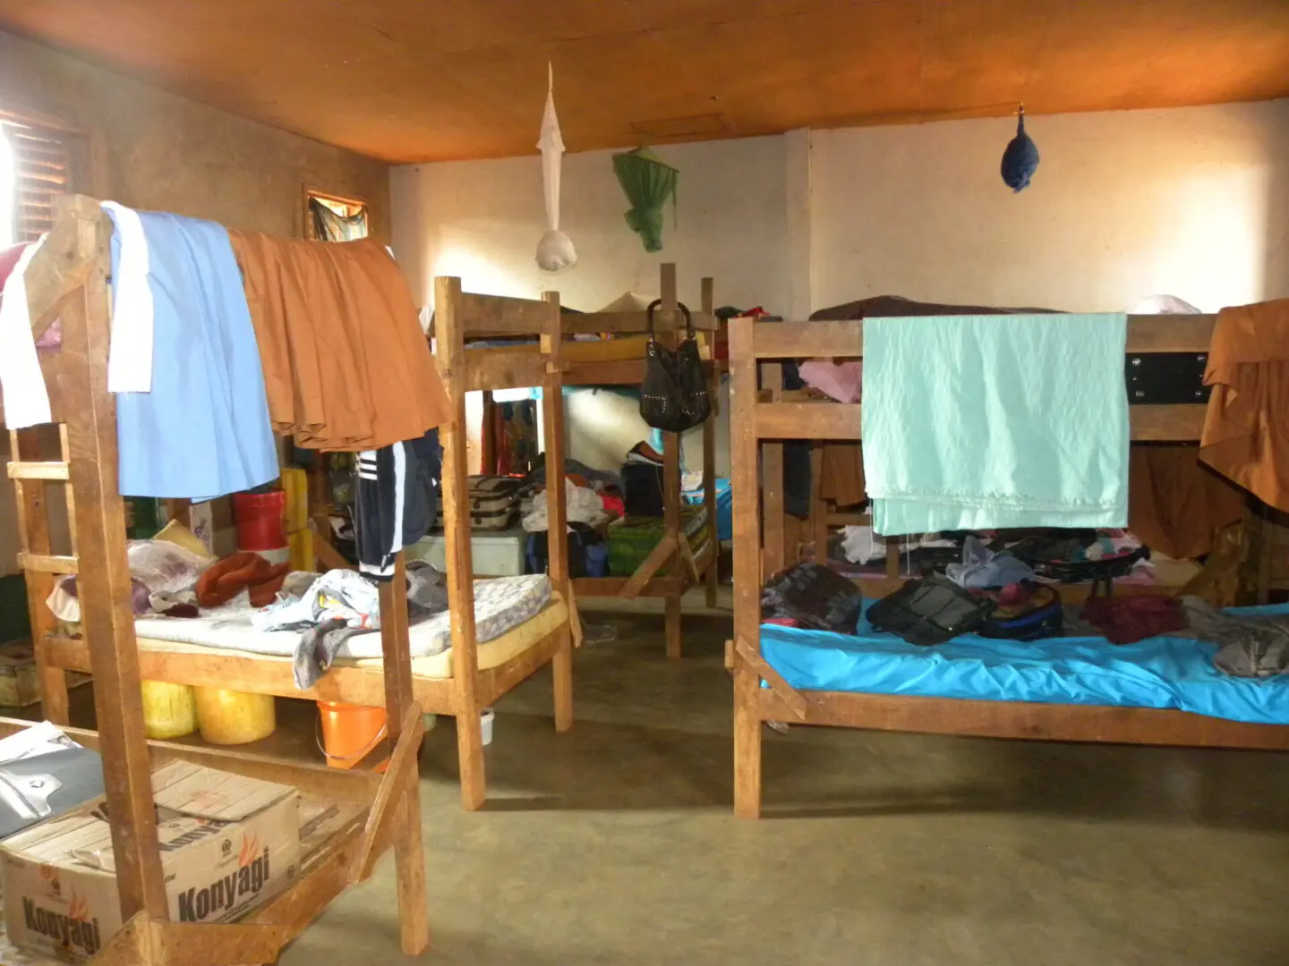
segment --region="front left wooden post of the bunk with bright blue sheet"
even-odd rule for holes
[[[730,488],[733,491],[733,634],[761,653],[761,479],[753,319],[730,321]],[[768,519],[767,519],[768,524]],[[781,524],[781,520],[780,520]],[[761,815],[761,680],[733,656],[733,813]]]

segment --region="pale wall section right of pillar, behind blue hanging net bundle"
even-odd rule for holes
[[[869,295],[1205,310],[1289,295],[1289,100],[813,131],[813,307]]]

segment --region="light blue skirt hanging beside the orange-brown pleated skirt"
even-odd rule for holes
[[[277,479],[264,370],[228,232],[141,213],[156,312],[152,392],[117,393],[125,496],[210,500]],[[112,272],[120,264],[112,234]]]

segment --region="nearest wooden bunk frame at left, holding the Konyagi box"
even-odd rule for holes
[[[62,348],[43,359],[61,438],[61,459],[34,450],[43,428],[12,433],[8,473],[14,480],[21,527],[21,563],[27,576],[34,634],[46,684],[62,677],[48,662],[40,634],[49,630],[44,594],[55,574],[77,573],[86,641],[84,666],[94,674],[99,730],[71,730],[97,747],[111,815],[112,846],[125,927],[94,963],[210,963],[236,966],[276,961],[278,952],[345,887],[371,875],[376,859],[394,850],[402,949],[419,954],[429,942],[425,866],[420,832],[416,750],[424,726],[411,696],[406,599],[401,585],[382,589],[394,620],[382,630],[384,705],[393,753],[383,777],[339,772],[232,751],[148,742],[143,730],[139,650],[130,607],[125,513],[116,489],[115,401],[107,392],[108,240],[111,224],[97,201],[64,198],[58,220],[27,270],[32,327],[39,335],[62,318]],[[46,489],[66,488],[71,553],[50,549]],[[66,724],[66,694],[52,687],[52,716]],[[30,723],[0,720],[0,734]],[[182,759],[255,778],[289,783],[305,793],[357,802],[361,814],[304,862],[284,893],[229,925],[183,925],[169,917],[157,849],[151,772]]]

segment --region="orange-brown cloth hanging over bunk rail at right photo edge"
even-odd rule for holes
[[[1200,459],[1289,510],[1289,299],[1222,309],[1204,383],[1213,394]]]

